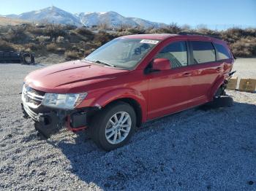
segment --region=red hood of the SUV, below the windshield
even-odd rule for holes
[[[128,73],[127,70],[98,66],[85,61],[70,61],[33,71],[25,78],[25,83],[48,93],[67,93],[71,89],[80,90],[78,87],[115,79]]]

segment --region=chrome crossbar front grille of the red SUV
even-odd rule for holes
[[[34,90],[28,85],[23,85],[22,90],[22,100],[23,104],[31,108],[37,108],[42,104],[42,99],[44,98],[45,93],[39,90]]]

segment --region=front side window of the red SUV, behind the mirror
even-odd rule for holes
[[[172,69],[187,66],[186,42],[173,42],[164,47],[156,58],[167,58],[170,60]]]

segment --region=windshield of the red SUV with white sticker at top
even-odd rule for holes
[[[158,43],[149,39],[113,39],[88,55],[85,60],[121,69],[133,69]]]

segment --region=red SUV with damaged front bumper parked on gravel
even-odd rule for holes
[[[22,109],[44,136],[88,128],[99,147],[116,149],[142,122],[222,95],[233,61],[227,44],[208,36],[122,36],[81,61],[31,72]]]

